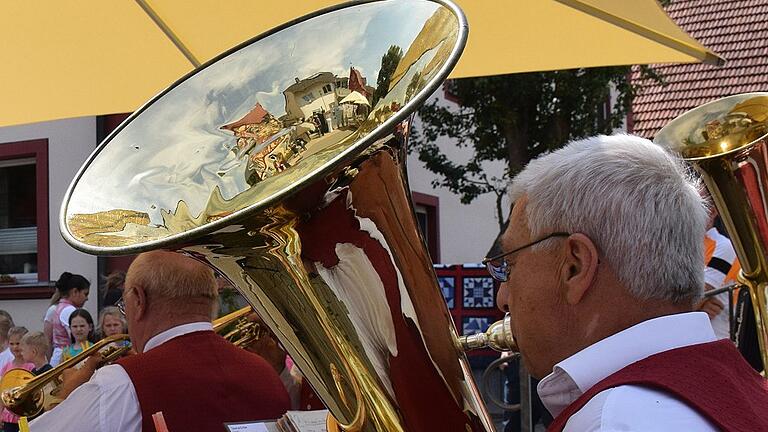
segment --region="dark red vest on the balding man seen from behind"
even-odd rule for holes
[[[225,422],[276,419],[289,408],[274,368],[212,331],[188,333],[120,359],[136,388],[142,431],[162,411],[168,430],[223,431]]]

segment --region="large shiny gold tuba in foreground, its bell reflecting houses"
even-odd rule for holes
[[[166,248],[216,268],[344,430],[493,431],[405,171],[411,116],[466,36],[450,1],[393,0],[248,41],[99,145],[62,234],[91,254]]]

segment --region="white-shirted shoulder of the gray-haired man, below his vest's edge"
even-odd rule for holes
[[[566,424],[565,431],[667,431],[718,429],[674,396],[623,385],[596,394]]]

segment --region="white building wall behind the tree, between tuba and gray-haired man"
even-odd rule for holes
[[[456,105],[442,97],[442,88],[433,97],[439,98],[441,104]],[[420,128],[419,120],[415,127]],[[452,140],[441,137],[440,148],[448,158],[457,163],[467,162],[472,155],[472,149],[459,148]],[[502,163],[488,164],[489,173],[501,176],[504,172]],[[470,204],[462,204],[459,196],[446,188],[434,188],[431,185],[437,175],[424,168],[424,163],[413,153],[408,156],[408,181],[411,190],[439,199],[438,217],[440,227],[440,264],[479,263],[491,248],[499,234],[499,224],[496,220],[496,196],[485,194],[476,198]],[[509,201],[504,200],[504,217],[509,213]]]

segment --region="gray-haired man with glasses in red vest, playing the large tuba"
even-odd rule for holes
[[[717,341],[707,209],[675,156],[630,135],[575,141],[512,181],[501,281],[553,431],[768,430],[765,381]]]

